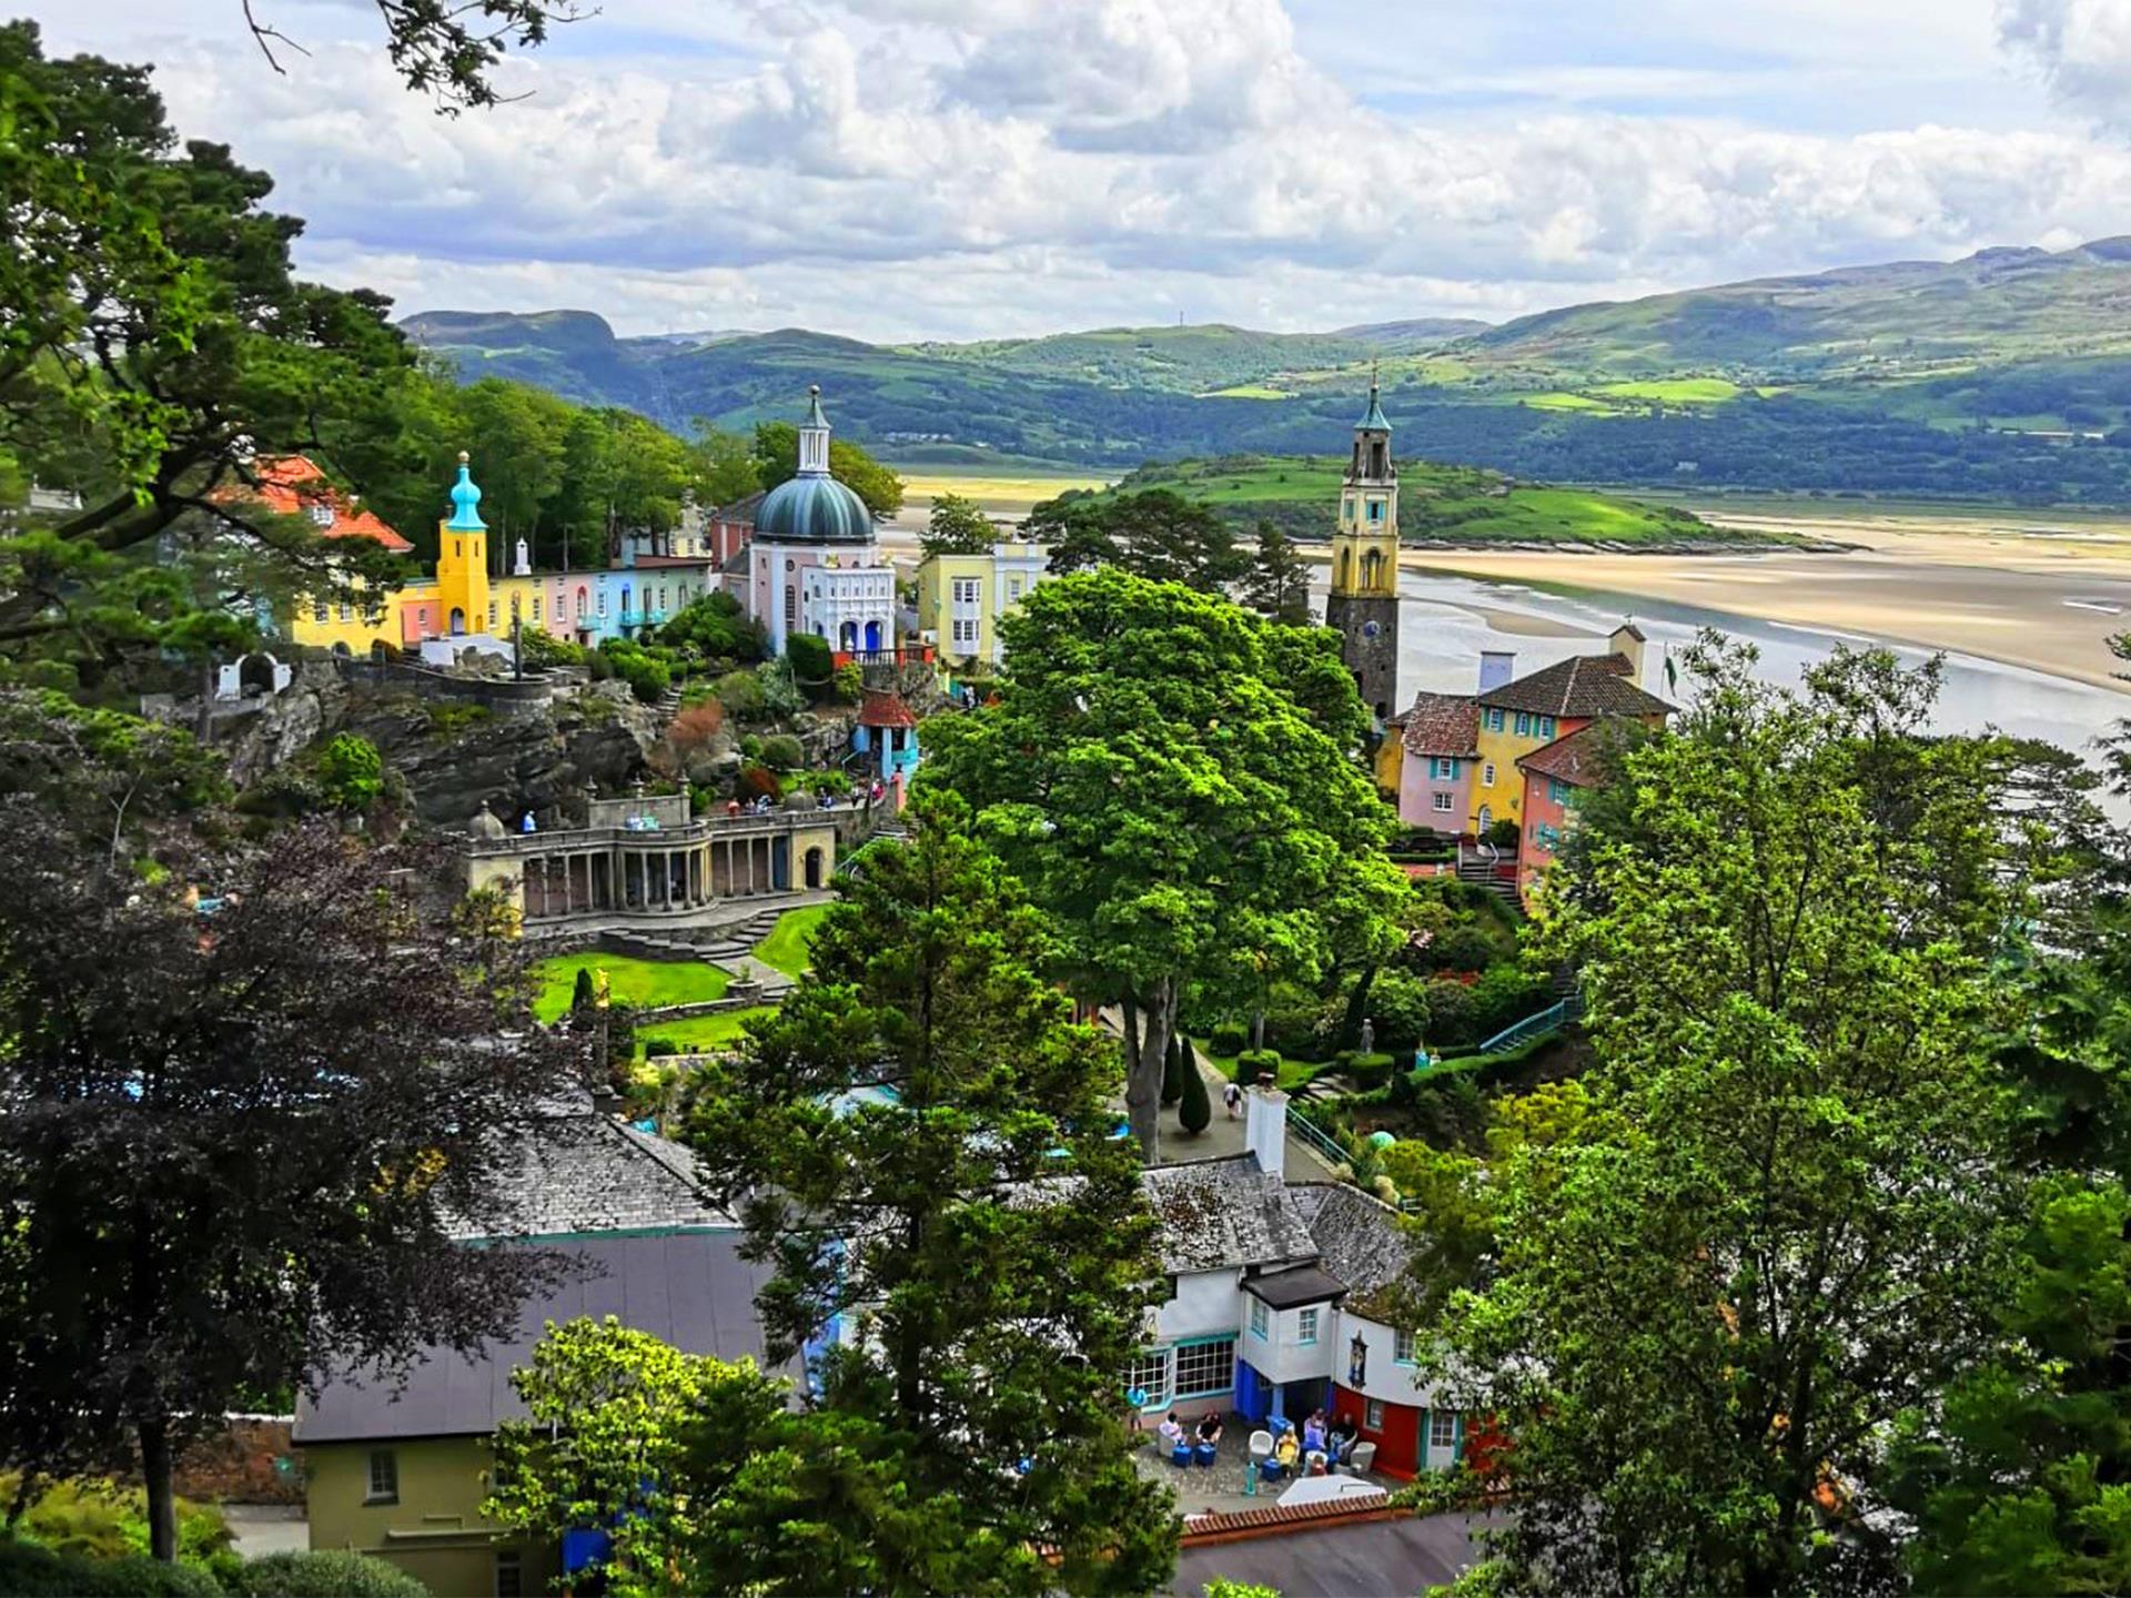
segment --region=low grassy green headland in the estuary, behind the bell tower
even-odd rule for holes
[[[1140,467],[1110,494],[1149,488],[1210,505],[1242,528],[1274,522],[1289,537],[1332,537],[1345,456],[1227,456]],[[1739,535],[1669,505],[1643,505],[1590,488],[1519,484],[1494,471],[1402,462],[1398,467],[1400,543],[1590,543],[1683,548],[1790,543]]]

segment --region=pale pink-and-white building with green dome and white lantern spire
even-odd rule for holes
[[[799,424],[799,471],[754,509],[746,556],[746,607],[778,654],[795,633],[814,633],[837,654],[895,648],[895,569],[880,558],[865,501],[829,475],[818,386]]]

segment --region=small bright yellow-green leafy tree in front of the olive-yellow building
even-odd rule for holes
[[[601,1575],[618,1598],[705,1589],[676,1587],[671,1572],[695,1568],[727,1494],[746,1511],[752,1453],[784,1411],[782,1383],[752,1359],[682,1353],[609,1315],[550,1325],[511,1387],[526,1419],[497,1428],[484,1513],[550,1540],[609,1526]],[[710,1460],[703,1434],[718,1438]],[[742,1585],[731,1575],[710,1585]]]

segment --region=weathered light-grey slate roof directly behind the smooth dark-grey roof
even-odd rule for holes
[[[699,1193],[695,1155],[590,1108],[546,1119],[501,1187],[514,1238],[733,1225]]]

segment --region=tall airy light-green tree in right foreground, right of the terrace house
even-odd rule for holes
[[[1907,1417],[1997,1344],[2020,1174],[1988,1040],[2024,884],[1931,678],[1803,695],[1705,643],[1677,735],[1622,756],[1541,908],[1600,1067],[1492,1161],[1494,1257],[1434,1327],[1515,1436],[1511,1581],[1894,1581],[1856,1513]],[[1630,1336],[1622,1330],[1632,1327]]]

